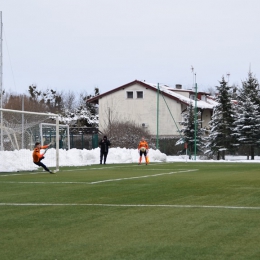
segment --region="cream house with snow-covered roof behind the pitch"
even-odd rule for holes
[[[148,129],[153,136],[179,136],[182,114],[191,103],[195,107],[195,92],[181,85],[170,88],[135,80],[89,99],[99,105],[99,129],[109,123],[131,121]],[[197,93],[197,109],[201,112],[202,127],[208,125],[216,102],[206,92]]]

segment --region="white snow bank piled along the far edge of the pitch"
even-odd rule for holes
[[[47,167],[55,167],[56,150],[49,149],[45,155],[43,163]],[[149,150],[150,162],[253,162],[260,163],[260,157],[255,156],[255,160],[247,160],[246,156],[226,156],[226,160],[201,160],[199,156],[196,161],[193,158],[189,160],[185,155],[167,156],[159,150]],[[137,149],[126,148],[110,148],[107,164],[115,163],[138,163],[139,153]],[[95,165],[100,162],[100,148],[92,150],[70,149],[59,151],[60,166],[84,166]],[[144,163],[144,158],[143,158]],[[32,162],[32,151],[16,150],[16,151],[0,151],[0,172],[16,172],[16,171],[33,171],[38,166]]]

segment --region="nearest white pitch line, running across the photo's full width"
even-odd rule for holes
[[[0,206],[98,206],[98,207],[154,207],[154,208],[213,208],[213,209],[252,209],[260,207],[211,206],[211,205],[148,205],[148,204],[89,204],[89,203],[0,203]]]

